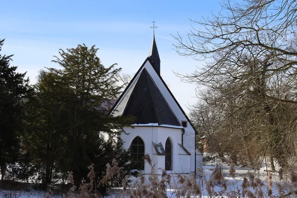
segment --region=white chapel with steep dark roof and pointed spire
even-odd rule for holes
[[[125,91],[115,102],[111,115],[132,115],[133,127],[122,134],[125,148],[132,148],[135,169],[149,174],[143,159],[148,153],[157,174],[162,168],[169,173],[190,174],[201,168],[201,153],[195,148],[196,129],[174,98],[161,75],[160,57],[153,35],[147,59],[141,65]]]

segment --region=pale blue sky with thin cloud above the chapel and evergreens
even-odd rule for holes
[[[152,30],[161,59],[161,76],[186,112],[197,101],[195,85],[175,76],[193,72],[203,63],[179,56],[172,35],[186,36],[189,18],[199,20],[218,12],[218,0],[4,0],[1,1],[1,54],[14,54],[12,65],[27,71],[31,83],[58,49],[78,44],[96,45],[103,65],[117,63],[123,73],[133,74],[148,56]]]

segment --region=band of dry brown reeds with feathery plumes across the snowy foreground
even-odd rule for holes
[[[122,181],[118,181],[117,187],[122,187],[117,194],[110,194],[114,198],[168,198],[167,188],[174,190],[174,193],[170,198],[190,198],[190,197],[228,197],[228,198],[287,198],[297,196],[297,173],[294,170],[290,170],[288,177],[291,183],[274,183],[273,175],[269,173],[267,177],[267,185],[265,185],[259,178],[251,172],[247,174],[247,177],[243,178],[243,182],[237,188],[233,185],[234,189],[228,188],[228,184],[222,173],[222,167],[215,166],[209,179],[206,179],[203,171],[198,169],[198,175],[192,174],[186,176],[183,174],[174,175],[167,173],[165,170],[161,170],[162,174],[159,178],[156,174],[156,167],[151,163],[151,159],[148,154],[145,155],[145,160],[150,166],[150,174],[148,179],[144,176],[142,171],[139,173],[139,178],[135,182],[134,186],[127,187],[128,178],[125,177]],[[69,175],[68,181],[73,185],[67,194],[67,198],[100,198],[107,196],[112,189],[112,180],[120,178],[120,167],[116,160],[112,161],[112,164],[106,165],[106,174],[100,180],[98,185],[106,186],[106,194],[100,195],[96,191],[96,181],[93,166],[89,166],[90,172],[88,174],[89,183],[82,181],[79,188],[74,186],[73,177]],[[235,177],[236,167],[230,165],[230,176],[236,181]],[[280,169],[278,171],[279,178],[284,180],[287,176],[284,171]],[[286,185],[284,185],[286,184]],[[273,195],[273,186],[277,187],[278,194]],[[118,188],[119,189],[119,188]],[[203,191],[204,189],[204,191]],[[275,192],[274,192],[275,193]],[[17,198],[15,195],[6,195],[7,198]],[[45,195],[45,198],[50,198],[50,194]]]

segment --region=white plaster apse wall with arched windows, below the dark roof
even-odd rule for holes
[[[185,151],[178,145],[181,144],[181,129],[167,128],[167,127],[155,127],[155,126],[135,126],[132,128],[124,129],[128,135],[122,134],[121,138],[124,141],[124,147],[129,148],[132,140],[139,136],[145,142],[145,153],[148,153],[152,159],[152,164],[156,163],[156,171],[161,174],[161,170],[158,168],[165,168],[165,156],[156,155],[155,149],[152,146],[152,142],[161,142],[165,148],[165,143],[168,137],[170,137],[173,146],[173,173],[189,173],[190,171],[190,155],[186,155]],[[192,156],[192,155],[191,155]],[[194,154],[193,154],[194,156]],[[144,173],[149,173],[150,167],[145,163]]]

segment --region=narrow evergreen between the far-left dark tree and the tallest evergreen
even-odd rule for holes
[[[60,91],[64,88],[55,84],[57,77],[41,70],[35,95],[27,104],[28,125],[23,145],[25,151],[31,153],[31,164],[38,170],[38,180],[45,189],[61,179],[58,162],[66,141],[67,119],[63,116],[63,101],[60,99]]]

